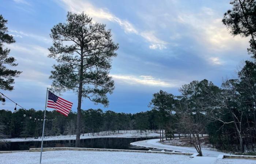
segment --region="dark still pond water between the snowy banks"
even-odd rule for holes
[[[149,150],[130,145],[131,142],[154,139],[159,137],[140,138],[87,138],[81,139],[81,148],[102,148],[102,149],[128,149],[128,150]],[[41,141],[6,142],[0,147],[0,151],[24,151],[30,148],[40,148]],[[53,147],[75,147],[75,140],[53,140],[44,141],[44,148]]]

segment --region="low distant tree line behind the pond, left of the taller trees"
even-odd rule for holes
[[[101,131],[109,135],[119,133],[119,130],[134,129],[139,129],[138,132],[142,134],[146,129],[157,130],[154,122],[148,119],[154,114],[152,111],[130,114],[88,109],[81,110],[81,114],[81,135],[91,133],[94,136]],[[77,127],[76,117],[76,112],[71,112],[68,117],[64,117],[55,110],[46,111],[45,136],[74,135]],[[2,138],[41,137],[43,118],[42,110],[19,109],[15,113],[0,110],[0,122],[4,125],[1,128],[1,136]]]

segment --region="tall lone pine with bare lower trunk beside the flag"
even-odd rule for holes
[[[118,45],[105,27],[93,23],[84,13],[68,12],[67,22],[54,26],[50,34],[53,46],[49,48],[49,57],[59,63],[53,66],[50,76],[53,90],[73,90],[78,94],[76,147],[80,142],[82,97],[107,106],[106,94],[114,89],[109,70]]]

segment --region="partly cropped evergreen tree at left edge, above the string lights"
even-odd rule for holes
[[[8,28],[5,26],[7,24],[7,20],[0,15],[0,89],[3,90],[13,90],[12,84],[14,84],[14,77],[18,77],[21,73],[17,70],[7,69],[6,66],[17,66],[15,63],[14,57],[8,56],[10,53],[10,49],[3,48],[3,44],[11,44],[14,43],[14,38],[7,34]]]

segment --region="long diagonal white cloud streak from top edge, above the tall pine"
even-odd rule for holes
[[[81,13],[84,11],[96,20],[105,19],[110,22],[116,22],[117,24],[119,24],[119,26],[121,26],[121,28],[124,29],[124,32],[127,34],[131,33],[142,36],[147,42],[151,44],[149,46],[150,49],[162,50],[166,48],[167,42],[158,39],[153,32],[139,32],[139,30],[136,29],[133,24],[130,23],[128,20],[120,19],[119,17],[110,13],[106,8],[96,8],[89,2],[83,0],[77,0],[76,3],[74,3],[74,1],[72,0],[61,1],[64,3],[64,8],[66,8],[68,11],[77,13]]]

